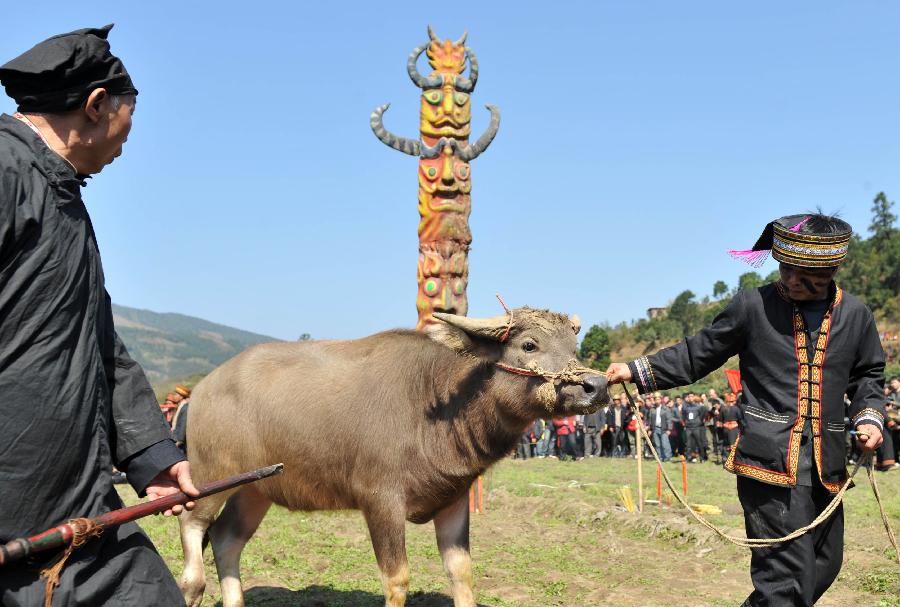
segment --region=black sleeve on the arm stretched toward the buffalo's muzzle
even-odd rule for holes
[[[641,394],[691,384],[737,354],[744,343],[743,291],[734,296],[712,324],[684,341],[628,363]]]

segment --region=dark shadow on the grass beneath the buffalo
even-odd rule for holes
[[[247,607],[384,607],[384,595],[363,590],[335,590],[329,586],[307,586],[289,590],[256,586],[244,592]],[[453,607],[453,599],[437,592],[413,592],[407,607]],[[216,603],[222,607],[222,602]],[[478,607],[491,607],[479,603]]]

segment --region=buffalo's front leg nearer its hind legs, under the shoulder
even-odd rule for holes
[[[403,607],[409,588],[409,565],[406,561],[406,516],[402,502],[395,507],[373,504],[363,514],[381,570],[385,607]]]

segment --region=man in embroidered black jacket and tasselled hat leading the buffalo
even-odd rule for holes
[[[629,364],[610,382],[641,392],[699,380],[740,358],[741,434],[725,468],[738,475],[747,537],[774,538],[803,527],[847,478],[844,401],[861,446],[875,449],[884,427],[884,352],[869,309],[832,280],[852,230],[840,219],[792,215],[771,222],[750,251],[781,262],[781,279],[739,292],[713,323],[683,342]],[[745,605],[811,606],[837,577],[844,515],[772,549],[754,550],[754,590]]]

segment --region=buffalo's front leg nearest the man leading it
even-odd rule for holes
[[[438,550],[450,578],[453,607],[475,607],[472,557],[469,555],[469,494],[464,493],[434,517]]]

